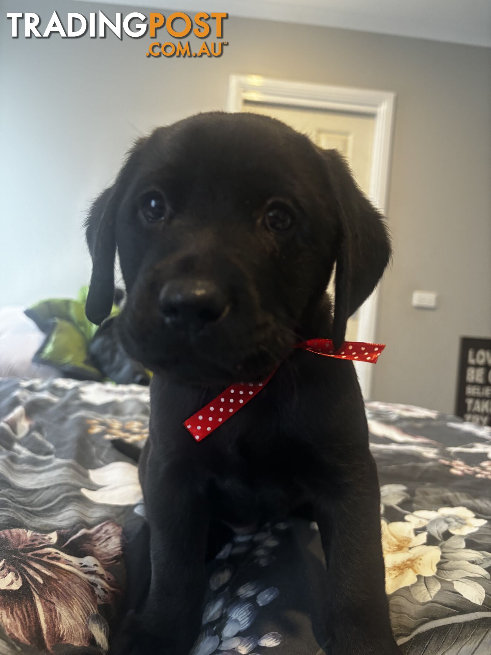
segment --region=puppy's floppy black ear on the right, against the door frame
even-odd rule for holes
[[[376,287],[391,257],[384,217],[355,182],[336,150],[322,151],[339,220],[333,341],[344,341],[348,318]]]

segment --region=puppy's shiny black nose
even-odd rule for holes
[[[167,282],[158,303],[168,326],[195,331],[219,320],[227,310],[225,295],[207,280]]]

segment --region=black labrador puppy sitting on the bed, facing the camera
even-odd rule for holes
[[[88,318],[100,323],[111,310],[118,250],[128,291],[120,339],[155,373],[139,466],[151,582],[118,655],[187,655],[210,525],[253,529],[304,502],[328,568],[329,653],[399,653],[354,366],[293,350],[315,337],[341,345],[390,259],[382,216],[342,157],[268,117],[196,115],[137,141],[94,202],[87,238]],[[277,365],[253,401],[193,440],[183,421]]]

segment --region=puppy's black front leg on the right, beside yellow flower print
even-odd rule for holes
[[[352,454],[340,479],[329,479],[316,507],[328,569],[329,653],[400,655],[385,592],[375,462],[368,450]]]

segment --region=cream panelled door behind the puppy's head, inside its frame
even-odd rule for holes
[[[266,114],[280,119],[298,132],[306,134],[321,148],[336,148],[348,160],[361,189],[369,193],[375,126],[373,115],[251,100],[244,100],[242,111]],[[333,280],[329,284],[328,291],[334,297]],[[358,312],[348,321],[347,341],[356,341],[358,338],[357,314]]]

